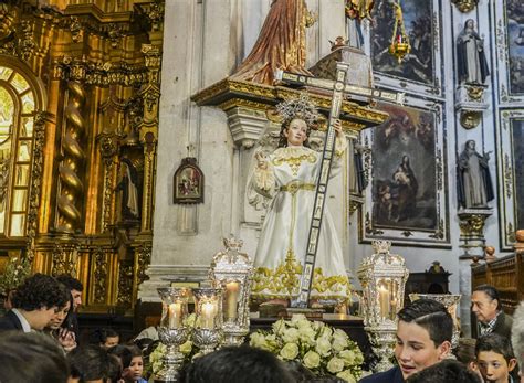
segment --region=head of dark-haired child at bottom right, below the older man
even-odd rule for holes
[[[510,372],[516,365],[510,341],[490,333],[476,341],[476,363],[486,382],[507,383]]]

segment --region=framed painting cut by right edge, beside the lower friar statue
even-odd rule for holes
[[[524,109],[501,110],[497,135],[501,249],[511,251],[524,228]]]

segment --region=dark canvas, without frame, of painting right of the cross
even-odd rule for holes
[[[434,117],[410,107],[382,109],[390,118],[374,131],[374,227],[436,230]]]

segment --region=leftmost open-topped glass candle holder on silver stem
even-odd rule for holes
[[[177,382],[178,371],[184,363],[180,344],[188,340],[190,332],[186,318],[191,291],[185,287],[165,287],[157,290],[163,305],[158,338],[166,345],[166,354],[155,382]]]

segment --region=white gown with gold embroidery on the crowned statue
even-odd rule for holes
[[[339,168],[344,150],[345,140],[337,139],[332,175]],[[273,198],[254,259],[252,296],[255,298],[289,299],[298,295],[321,160],[319,152],[289,146],[269,156],[265,169],[259,166],[254,169],[251,181],[254,190]],[[311,298],[346,299],[348,295],[342,247],[326,204]]]

